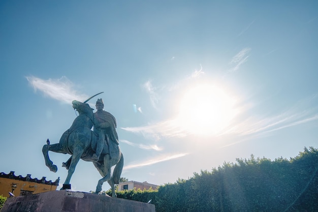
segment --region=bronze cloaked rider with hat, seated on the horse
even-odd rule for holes
[[[117,145],[119,144],[116,132],[116,119],[112,114],[103,110],[103,108],[103,99],[98,99],[96,102],[97,111],[94,112],[94,132],[98,134],[99,138],[96,145],[96,153],[92,156],[92,160],[96,162],[99,160],[103,151],[105,139],[108,144],[108,148],[110,148],[109,139],[113,140]]]

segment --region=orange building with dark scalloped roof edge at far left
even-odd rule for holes
[[[59,177],[54,182],[52,180],[47,181],[45,178],[31,178],[30,174],[25,177],[15,176],[14,171],[10,171],[9,174],[1,172],[0,195],[11,197],[12,195],[20,196],[55,191],[59,183]]]

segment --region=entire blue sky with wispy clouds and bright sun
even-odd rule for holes
[[[122,176],[164,185],[318,147],[316,1],[1,1],[2,172],[55,180],[72,100],[117,119]],[[101,178],[80,161],[72,189]],[[103,190],[109,189],[107,183]]]

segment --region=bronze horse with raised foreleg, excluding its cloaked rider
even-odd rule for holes
[[[48,151],[72,155],[69,161],[63,163],[63,166],[68,169],[68,175],[64,184],[70,184],[71,177],[80,159],[93,162],[103,177],[98,181],[95,193],[98,194],[102,191],[102,185],[107,181],[112,190],[112,197],[116,197],[114,185],[119,184],[119,178],[123,168],[123,155],[118,144],[106,136],[109,140],[108,142],[104,142],[101,157],[97,162],[94,162],[92,159],[92,155],[95,153],[94,149],[96,149],[98,142],[98,135],[91,131],[94,116],[92,112],[93,109],[86,104],[88,100],[84,103],[76,100],[72,102],[73,108],[78,111],[79,115],[75,118],[70,129],[62,134],[59,143],[50,144],[49,139],[47,140],[47,144],[42,148],[45,165],[49,167],[51,171],[57,171],[57,166],[50,160]],[[116,166],[113,174],[111,174],[111,167],[114,165]]]

